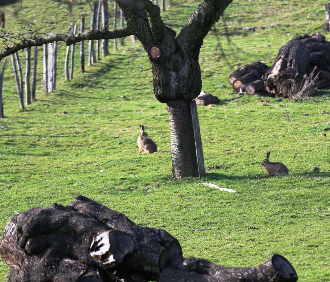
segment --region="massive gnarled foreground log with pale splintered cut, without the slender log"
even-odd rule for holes
[[[178,240],[165,230],[140,227],[97,202],[76,199],[12,218],[0,243],[11,266],[9,282],[93,281],[82,279],[86,273],[104,282],[124,274],[130,278],[125,281],[147,282],[182,259]]]

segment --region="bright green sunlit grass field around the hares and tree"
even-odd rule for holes
[[[67,32],[66,7],[48,2],[23,0],[18,13],[17,6],[6,8],[7,29],[34,22]],[[179,32],[199,1],[173,2],[162,17]],[[64,79],[61,43],[56,92],[45,96],[39,76],[38,101],[23,112],[8,65],[6,118],[0,120],[8,126],[0,129],[0,234],[15,212],[68,204],[84,195],[137,224],[166,229],[179,239],[186,257],[251,266],[278,253],[292,263],[300,281],[330,281],[330,133],[322,134],[330,127],[329,114],[322,114],[330,110],[329,90],[304,101],[226,100],[235,96],[228,82],[232,70],[256,60],[271,64],[290,38],[320,31],[324,2],[234,0],[224,14],[230,40],[221,20],[209,33],[200,54],[203,90],[221,103],[200,107],[198,114],[205,165],[221,168],[202,179],[171,178],[168,113],[153,95],[149,59],[140,43],[126,40],[115,52],[110,41],[111,55],[84,74],[76,51],[70,82]],[[74,7],[73,13],[79,19],[89,6]],[[266,28],[234,29],[242,26]],[[23,60],[25,53],[20,55]],[[137,155],[139,124],[145,124],[159,153]],[[288,166],[289,176],[265,178],[263,167],[254,163],[268,151],[272,161]],[[315,166],[320,173],[311,173]],[[205,181],[238,193],[201,185]],[[6,281],[8,269],[1,261],[0,281]]]

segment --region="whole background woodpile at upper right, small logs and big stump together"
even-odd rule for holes
[[[248,83],[257,72],[253,68],[251,71],[250,66],[256,63],[243,66],[229,76],[234,91],[241,87],[249,95],[266,90],[271,96],[294,98],[302,89],[330,86],[330,42],[319,33],[295,36],[281,47],[272,67],[261,69],[265,70],[262,78]]]

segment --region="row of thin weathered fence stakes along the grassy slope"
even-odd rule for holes
[[[95,1],[93,11],[91,13],[90,30],[95,29],[109,29],[109,8],[108,1]],[[72,13],[72,11],[70,11]],[[117,5],[115,2],[114,6],[114,21],[113,28],[116,29],[117,20]],[[118,12],[119,14],[119,12]],[[102,16],[101,16],[102,15]],[[102,18],[101,18],[102,17]],[[102,21],[102,22],[101,22]],[[123,13],[120,10],[120,27],[124,25]],[[85,16],[81,17],[80,32],[85,31]],[[69,29],[69,34],[77,33],[77,25],[72,24]],[[91,40],[88,42],[88,66],[91,66],[97,60],[100,60],[100,49],[102,49],[103,56],[109,55],[109,44],[108,40]],[[135,41],[135,36],[132,35],[132,41]],[[96,44],[95,44],[96,43]],[[124,45],[124,38],[120,40],[121,45]],[[96,45],[96,47],[95,47]],[[66,47],[66,55],[64,62],[64,73],[65,79],[70,81],[73,78],[74,72],[74,58],[75,58],[75,45]],[[114,48],[117,50],[117,41],[114,39]],[[71,53],[71,54],[70,54]],[[25,80],[23,80],[22,67],[18,53],[11,55],[12,65],[14,70],[14,76],[16,80],[17,92],[20,102],[21,109],[31,104],[35,100],[36,94],[36,79],[37,79],[37,62],[38,62],[38,46],[33,47],[33,68],[32,68],[32,87],[30,86],[31,76],[31,47],[26,48],[26,71]],[[70,56],[71,55],[71,56]],[[6,66],[6,59],[3,62],[2,67],[0,66],[0,118],[4,118],[3,99],[2,99],[2,86],[4,70]],[[71,62],[70,62],[71,61]],[[81,61],[81,72],[85,72],[85,50],[84,42],[80,43],[80,61]],[[70,68],[69,68],[70,62]],[[57,42],[48,43],[43,45],[43,85],[44,92],[47,95],[56,89],[56,74],[57,74]],[[25,85],[25,87],[24,87]],[[25,91],[24,91],[25,90]],[[25,105],[24,105],[24,92],[25,92]]]

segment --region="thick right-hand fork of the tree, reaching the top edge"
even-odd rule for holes
[[[204,37],[232,1],[204,0],[192,13],[177,37],[177,43],[182,50],[198,57]]]

